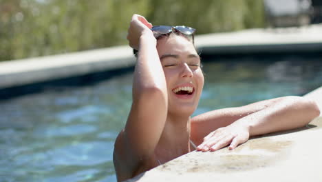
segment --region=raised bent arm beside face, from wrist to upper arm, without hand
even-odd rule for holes
[[[135,156],[149,156],[158,143],[166,119],[167,85],[164,72],[154,37],[143,34],[134,72],[133,103],[124,132],[127,150]]]

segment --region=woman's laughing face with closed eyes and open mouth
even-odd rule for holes
[[[182,36],[158,40],[158,54],[168,89],[169,114],[193,114],[204,86],[200,57],[193,43]]]

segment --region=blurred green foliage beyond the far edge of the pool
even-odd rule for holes
[[[133,13],[197,34],[265,24],[262,0],[0,0],[0,61],[126,44]]]

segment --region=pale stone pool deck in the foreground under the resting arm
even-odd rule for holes
[[[322,87],[306,94],[322,110]],[[322,181],[322,116],[299,130],[267,134],[235,150],[191,152],[133,181]]]

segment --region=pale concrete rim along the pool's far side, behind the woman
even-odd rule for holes
[[[195,37],[202,54],[322,52],[322,24],[303,28],[250,29]],[[0,90],[133,66],[129,46],[0,62]]]

